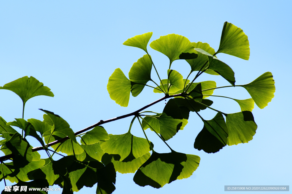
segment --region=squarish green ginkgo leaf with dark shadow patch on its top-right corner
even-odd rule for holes
[[[250,111],[227,114],[226,126],[228,129],[228,145],[247,143],[256,134],[257,124]]]

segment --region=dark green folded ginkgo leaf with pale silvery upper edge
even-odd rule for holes
[[[219,75],[224,77],[225,80],[227,80],[230,84],[232,84],[234,86],[235,77],[234,77],[234,72],[230,68],[230,66],[228,66],[224,62],[222,62],[219,59],[217,59],[216,57],[214,57],[212,54],[210,54],[202,49],[196,48],[195,50],[202,53],[202,54],[207,55],[208,62],[209,62],[208,69],[215,71],[216,73],[218,73]]]

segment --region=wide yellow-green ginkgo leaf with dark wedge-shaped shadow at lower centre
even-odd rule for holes
[[[150,151],[148,141],[141,137],[136,137],[130,132],[122,135],[110,135],[109,140],[100,142],[101,149],[108,154],[118,154],[119,161],[132,161]]]

